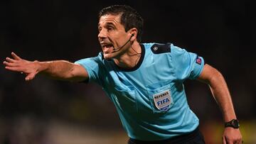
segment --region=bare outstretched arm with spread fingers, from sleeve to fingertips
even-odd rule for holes
[[[80,82],[88,79],[88,74],[81,65],[65,60],[55,60],[48,62],[28,61],[18,57],[11,52],[10,57],[6,57],[4,65],[6,70],[21,72],[26,74],[26,81],[33,79],[36,74],[43,74],[52,79],[68,80],[70,82]]]

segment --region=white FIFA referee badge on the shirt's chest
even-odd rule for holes
[[[154,104],[157,109],[159,109],[160,111],[169,110],[169,107],[172,103],[170,90],[160,92],[159,94],[154,94],[153,98],[154,98]]]

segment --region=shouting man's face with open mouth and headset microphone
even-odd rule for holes
[[[120,23],[119,15],[114,16],[107,14],[101,16],[98,29],[98,38],[105,59],[118,58],[129,48],[129,43],[127,45],[124,44],[127,43],[130,36],[125,32],[124,26]],[[124,47],[121,48],[123,45]],[[114,48],[118,51],[115,51]]]

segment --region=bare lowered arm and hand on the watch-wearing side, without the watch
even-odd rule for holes
[[[220,106],[223,113],[223,119],[228,122],[236,119],[233,102],[228,90],[228,86],[223,75],[210,65],[204,65],[198,80],[209,85],[215,101]],[[223,133],[223,143],[242,143],[242,135],[239,128],[227,127]]]

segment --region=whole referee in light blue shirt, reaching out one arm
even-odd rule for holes
[[[209,85],[223,113],[223,143],[242,143],[238,119],[222,74],[203,57],[173,43],[141,43],[143,19],[130,6],[114,5],[99,13],[102,52],[75,63],[28,61],[14,52],[6,70],[70,82],[95,82],[117,109],[129,144],[205,143],[198,117],[188,106],[183,82]]]

